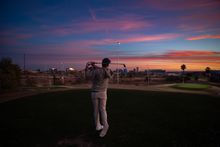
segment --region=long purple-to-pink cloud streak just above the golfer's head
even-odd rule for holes
[[[21,36],[22,38],[23,36]],[[30,37],[30,36],[24,36]],[[146,35],[146,36],[135,36],[121,39],[100,39],[100,40],[79,40],[79,41],[68,41],[63,43],[47,43],[47,44],[26,44],[25,48],[28,48],[28,52],[33,54],[68,54],[72,55],[73,58],[85,57],[104,57],[114,56],[116,51],[104,48],[104,45],[116,44],[117,41],[121,43],[132,43],[132,42],[146,42],[146,41],[158,41],[175,39],[179,37],[178,34],[157,34],[157,35]],[[99,48],[97,46],[103,46]],[[27,52],[27,51],[24,51]],[[124,52],[120,51],[123,55]],[[118,54],[118,51],[117,51]]]

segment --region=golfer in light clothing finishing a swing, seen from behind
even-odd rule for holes
[[[94,120],[96,130],[101,130],[99,134],[100,137],[104,137],[109,128],[107,121],[106,101],[108,82],[113,75],[113,72],[108,68],[110,63],[111,60],[104,58],[102,60],[102,67],[96,66],[95,62],[88,62],[85,69],[86,76],[92,80]]]

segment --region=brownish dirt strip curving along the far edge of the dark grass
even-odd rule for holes
[[[180,92],[180,93],[193,93],[193,94],[205,94],[220,97],[220,87],[211,86],[207,90],[182,90],[176,89],[172,86],[175,84],[161,84],[161,85],[125,85],[125,84],[110,84],[111,89],[131,89],[131,90],[143,90],[143,91],[163,91],[163,92]],[[28,88],[19,91],[0,93],[0,103],[14,100],[21,97],[31,96],[39,93],[47,93],[54,91],[65,91],[74,89],[89,89],[90,84],[78,84],[74,86],[56,86],[56,87],[38,87]]]

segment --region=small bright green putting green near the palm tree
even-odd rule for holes
[[[174,88],[187,89],[187,90],[204,90],[210,88],[207,84],[195,84],[195,83],[180,83],[173,86]]]

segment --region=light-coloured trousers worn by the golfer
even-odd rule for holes
[[[107,92],[92,92],[92,103],[95,125],[108,128],[107,112],[106,112]],[[101,122],[100,122],[101,117]]]

